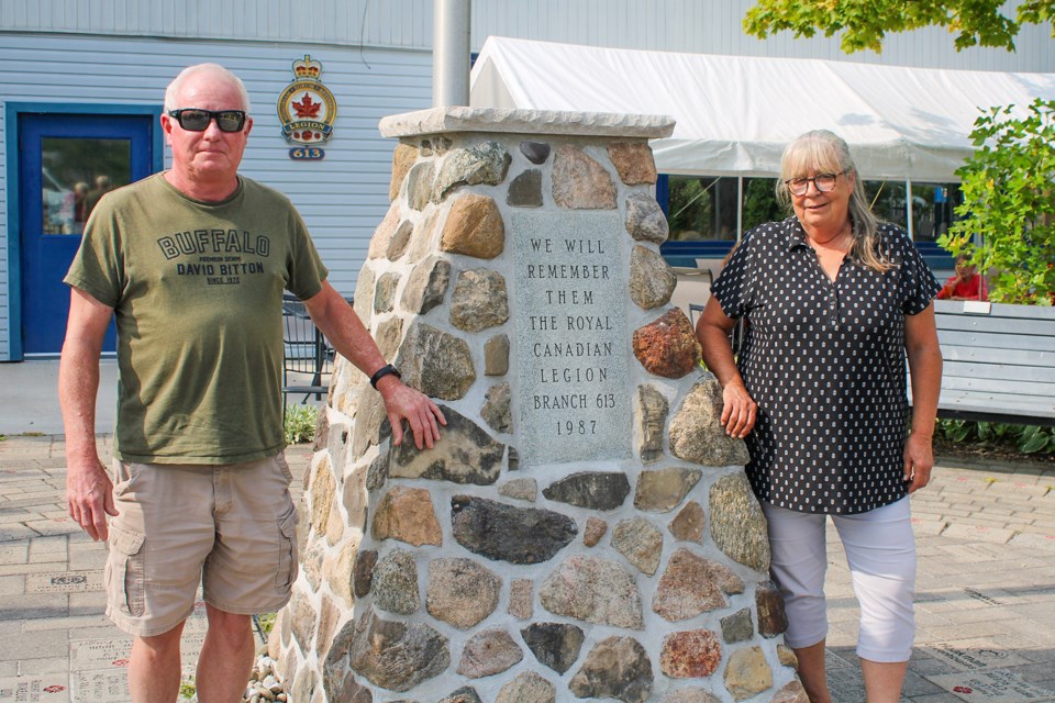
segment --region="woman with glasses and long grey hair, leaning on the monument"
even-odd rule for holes
[[[846,143],[831,132],[787,147],[777,194],[795,214],[744,236],[697,335],[722,384],[725,432],[747,443],[747,476],[769,522],[770,570],[787,607],[785,640],[810,701],[831,701],[830,515],[860,603],[867,701],[895,703],[914,635],[908,494],[926,486],[933,465],[942,357],[931,301],[940,287],[904,232],[876,221]],[[747,325],[737,361],[729,333],[740,317]]]

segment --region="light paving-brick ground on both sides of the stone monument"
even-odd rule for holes
[[[288,457],[299,475],[309,448]],[[65,464],[62,436],[0,442],[0,703],[129,700],[129,639],[102,614],[106,548],[66,515]],[[902,700],[1053,703],[1055,467],[939,464],[912,500],[918,633]],[[837,703],[860,703],[856,602],[834,529],[830,546],[832,692]],[[203,629],[196,613],[188,667]]]

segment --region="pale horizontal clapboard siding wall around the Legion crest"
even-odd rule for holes
[[[7,0],[3,3],[7,7]],[[282,140],[279,93],[292,79],[290,64],[306,53],[322,62],[321,79],[337,100],[334,136],[322,161],[293,161]],[[308,223],[331,281],[355,290],[374,228],[388,210],[395,143],[382,138],[386,115],[427,108],[431,56],[422,52],[88,35],[0,33],[0,64],[34,67],[0,72],[0,115],[7,101],[146,103],[160,105],[165,86],[189,63],[215,60],[246,83],[254,126],[242,172],[285,192]],[[5,133],[0,125],[0,159]],[[166,147],[166,164],[169,156]],[[10,339],[7,261],[7,172],[0,160],[0,359]]]

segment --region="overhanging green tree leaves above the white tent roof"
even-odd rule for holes
[[[853,54],[882,49],[886,34],[943,26],[956,35],[956,51],[998,46],[1014,51],[1022,24],[1052,23],[1055,0],[1024,0],[1012,20],[1001,12],[1008,0],[758,0],[747,11],[744,31],[759,38],[791,30],[796,36],[842,32],[840,46]]]

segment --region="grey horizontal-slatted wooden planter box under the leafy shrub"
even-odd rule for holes
[[[934,301],[940,417],[1055,426],[1055,308]]]

